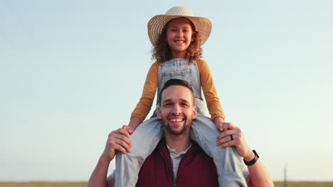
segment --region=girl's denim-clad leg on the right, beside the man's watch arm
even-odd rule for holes
[[[215,123],[204,115],[198,115],[191,125],[191,138],[212,157],[218,171],[220,186],[247,186],[243,176],[243,160],[236,147],[222,149],[216,145],[220,131]]]

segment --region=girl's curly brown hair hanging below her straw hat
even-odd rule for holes
[[[162,63],[172,59],[171,49],[168,42],[166,41],[166,28],[168,27],[169,23],[170,21],[165,24],[161,35],[159,35],[157,44],[154,45],[152,49],[152,59]],[[200,35],[196,31],[194,24],[191,21],[190,23],[193,30],[192,39],[194,39],[194,41],[192,41],[187,48],[185,58],[188,59],[189,62],[193,62],[199,60],[202,57],[202,48],[200,45]]]

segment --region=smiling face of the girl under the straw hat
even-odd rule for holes
[[[174,18],[166,27],[166,41],[172,58],[184,58],[187,48],[194,39],[191,22],[187,18]]]

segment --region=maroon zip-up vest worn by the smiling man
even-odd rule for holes
[[[174,181],[169,150],[164,140],[161,140],[139,171],[137,187],[141,186],[218,187],[218,174],[213,159],[208,157],[196,142],[192,142],[191,148],[179,163],[176,181]]]

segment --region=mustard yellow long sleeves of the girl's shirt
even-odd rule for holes
[[[218,98],[218,94],[216,92],[216,86],[213,82],[211,69],[204,60],[198,60],[196,63],[198,64],[200,74],[201,89],[203,91],[203,96],[205,96],[207,108],[211,114],[211,119],[214,120],[216,117],[225,119],[226,117],[223,113],[220,99]],[[154,96],[158,86],[159,64],[160,62],[154,62],[154,64],[152,64],[149,68],[146,81],[144,82],[142,96],[139,103],[137,103],[137,107],[134,108],[131,118],[135,116],[142,122],[152,108],[152,103],[154,102]]]

